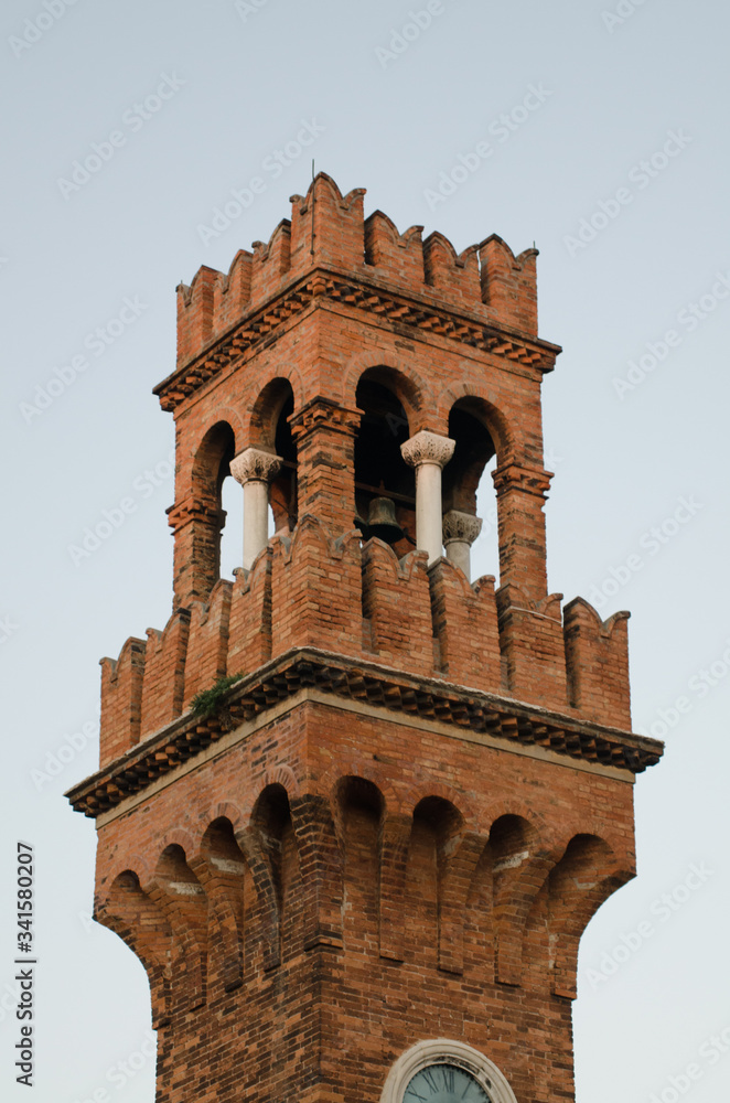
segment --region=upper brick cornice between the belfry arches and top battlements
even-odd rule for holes
[[[358,272],[318,269],[245,314],[235,326],[216,336],[197,356],[159,383],[153,394],[160,398],[163,409],[174,410],[235,357],[270,338],[289,318],[312,303],[325,302],[339,302],[421,333],[434,333],[455,344],[501,355],[543,373],[552,371],[561,351],[559,345],[548,341],[486,322],[475,311],[458,308],[428,287],[423,295],[416,297],[402,290],[390,291],[387,283]]]

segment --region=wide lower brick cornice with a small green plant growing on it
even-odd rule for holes
[[[656,739],[509,697],[303,647],[281,655],[237,682],[226,700],[225,719],[221,716],[201,719],[187,713],[75,785],[66,796],[76,812],[96,818],[194,758],[232,726],[262,716],[303,687],[316,688],[334,698],[362,700],[410,717],[485,732],[505,745],[543,747],[559,756],[613,767],[627,774],[655,765],[664,751]]]

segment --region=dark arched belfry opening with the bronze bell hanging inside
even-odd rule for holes
[[[365,539],[377,536],[400,557],[416,547],[416,479],[400,454],[410,430],[390,374],[368,368],[357,385],[354,523]]]

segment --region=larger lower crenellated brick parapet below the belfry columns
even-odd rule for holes
[[[207,603],[104,661],[101,764],[183,717],[224,674],[312,646],[629,731],[627,613],[604,623],[576,599],[563,618],[560,599],[495,592],[491,576],[470,583],[423,552],[398,560],[377,538],[333,538],[305,515]]]

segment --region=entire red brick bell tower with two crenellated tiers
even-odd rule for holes
[[[178,288],[173,611],[103,661],[68,794],[149,976],[158,1103],[572,1100],[579,939],[662,753],[627,613],[547,590],[536,250],[458,256],[363,195],[321,173]],[[469,577],[494,456],[496,588]]]

